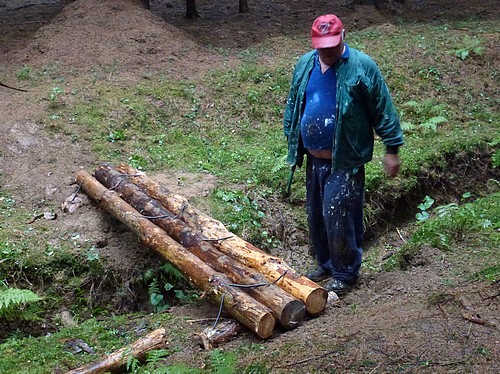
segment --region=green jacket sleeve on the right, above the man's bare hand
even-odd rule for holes
[[[392,102],[389,88],[373,60],[369,60],[367,69],[367,106],[372,126],[382,142],[391,150],[403,145],[403,131],[399,115]]]

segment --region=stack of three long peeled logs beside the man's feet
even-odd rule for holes
[[[325,289],[145,173],[105,163],[94,175],[78,172],[82,191],[260,338],[269,338],[276,322],[293,329],[306,312],[315,316],[325,309]]]

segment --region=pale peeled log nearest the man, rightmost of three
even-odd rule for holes
[[[220,221],[200,212],[189,204],[186,198],[172,193],[144,172],[127,164],[118,165],[116,170],[128,174],[130,180],[149,196],[160,201],[189,226],[199,230],[204,237],[213,240],[215,246],[224,254],[257,270],[271,282],[281,277],[276,284],[301,300],[308,313],[314,316],[324,311],[328,292],[317,283],[297,274],[280,258],[269,255],[231,233]]]

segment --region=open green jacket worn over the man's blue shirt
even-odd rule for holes
[[[373,156],[374,130],[390,153],[396,153],[403,144],[399,116],[379,68],[366,54],[346,48],[346,57],[334,65],[337,74],[334,170],[354,170],[369,162]],[[300,167],[305,154],[300,121],[316,55],[317,51],[313,50],[297,62],[285,108],[283,127],[288,139],[287,161],[292,166]]]

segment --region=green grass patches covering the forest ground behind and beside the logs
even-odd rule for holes
[[[499,138],[493,135],[499,133],[498,91],[491,87],[498,73],[488,53],[495,43],[488,35],[496,32],[497,25],[474,21],[460,27],[398,25],[384,37],[377,28],[349,34],[350,45],[378,62],[406,126],[402,176],[386,180],[381,168],[384,150],[377,144],[374,161],[367,166],[369,198],[397,199],[418,191],[423,177],[446,169],[456,154],[498,152]],[[212,216],[254,244],[272,249],[280,240],[270,238],[271,230],[263,226],[267,214],[263,201],[282,202],[294,215],[294,224],[305,226],[303,171],[296,173],[289,199],[282,197],[288,166],[281,121],[296,55],[281,52],[275,65],[266,65],[259,60],[258,48],[242,52],[236,68],[216,69],[199,81],[144,75],[135,86],[111,86],[108,74],[103,74],[102,79],[71,89],[63,84],[65,74],[57,67],[36,71],[29,66],[22,67],[17,77],[32,86],[49,87],[39,100],[46,105],[44,125],[50,132],[89,144],[102,161],[128,162],[147,172],[169,169],[215,175],[218,185],[208,197]],[[449,214],[433,212],[434,218],[418,225],[386,269],[404,267],[422,246],[435,246],[467,262],[470,279],[498,281],[498,202],[496,193]],[[89,279],[106,275],[98,251],[78,233],[59,234],[43,221],[36,229],[26,225],[34,213],[38,212],[18,206],[8,191],[0,190],[0,281],[11,287],[47,285],[42,311],[70,304],[81,323],[74,328],[56,326],[55,333],[38,338],[13,332],[0,346],[2,373],[52,372],[94,359],[65,351],[64,342],[74,337],[91,344],[98,354],[133,340],[130,316],[109,316],[112,308],[107,310],[105,303],[100,311],[89,305]],[[378,213],[378,207],[368,206],[368,221],[376,221]],[[56,240],[48,244],[47,238]],[[469,252],[453,252],[457,244]],[[460,266],[461,271],[468,269]],[[365,269],[370,267],[381,271],[379,263]],[[60,295],[70,298],[63,300]],[[87,319],[99,313],[100,320]],[[148,321],[151,318],[166,323],[170,317],[156,314]],[[186,339],[186,332],[175,334]],[[160,356],[149,368],[158,364]],[[212,365],[224,366],[224,359],[215,357]],[[233,358],[227,359],[228,366],[234,365]],[[24,371],[27,364],[32,371]],[[254,366],[248,372],[265,372],[264,363]]]

